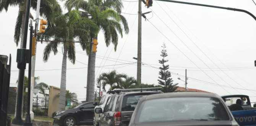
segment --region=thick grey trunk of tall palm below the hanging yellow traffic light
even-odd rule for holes
[[[97,39],[97,36],[94,37],[94,39]],[[90,49],[89,60],[88,60],[88,70],[87,70],[86,102],[93,102],[95,97],[94,95],[95,62],[96,62],[96,52],[91,52],[91,49]]]

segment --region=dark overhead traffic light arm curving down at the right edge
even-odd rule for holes
[[[225,9],[225,10],[232,10],[232,11],[240,11],[240,12],[247,13],[248,15],[253,17],[254,20],[256,20],[256,17],[252,13],[250,13],[250,12],[248,12],[246,10],[241,10],[241,9],[236,9],[236,8],[229,8],[229,7],[222,7],[222,6],[212,6],[212,5],[205,5],[205,4],[199,4],[199,3],[189,3],[189,2],[174,1],[174,0],[156,0],[156,1],[181,3],[181,4],[188,4],[188,5],[206,6],[206,7],[211,7],[211,8],[219,8],[219,9]]]

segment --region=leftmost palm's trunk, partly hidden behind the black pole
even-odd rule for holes
[[[27,5],[27,0],[24,0],[23,6],[24,6],[25,10],[26,10],[26,5]],[[20,39],[21,45],[20,45],[20,48],[22,48],[22,46],[23,46],[24,31],[25,31],[25,11],[23,10],[22,11],[22,22],[21,22],[21,39]],[[19,70],[19,74],[20,74],[20,70]],[[18,74],[18,76],[19,76],[19,74]],[[15,117],[16,117],[17,100],[18,100],[17,98],[18,98],[18,93],[16,95],[15,114],[14,114]],[[21,117],[23,117],[23,97],[22,97],[22,103],[21,103]]]

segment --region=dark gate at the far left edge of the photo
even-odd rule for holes
[[[11,75],[11,55],[9,65],[7,65],[7,62],[8,57],[5,55],[0,55],[0,124],[2,126],[6,126],[7,119],[7,104]]]

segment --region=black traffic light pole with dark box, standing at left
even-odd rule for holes
[[[27,46],[27,37],[28,37],[30,3],[31,3],[31,0],[27,0],[24,37],[23,37],[23,45],[22,45],[22,51],[21,51],[21,61],[18,63],[20,74],[19,74],[19,81],[18,81],[16,117],[12,121],[13,124],[19,124],[19,125],[23,124],[23,120],[21,119],[21,109],[22,109],[22,97],[23,97],[23,87],[24,87],[24,75],[25,75],[25,69],[26,69],[26,51],[27,51],[26,46]]]

